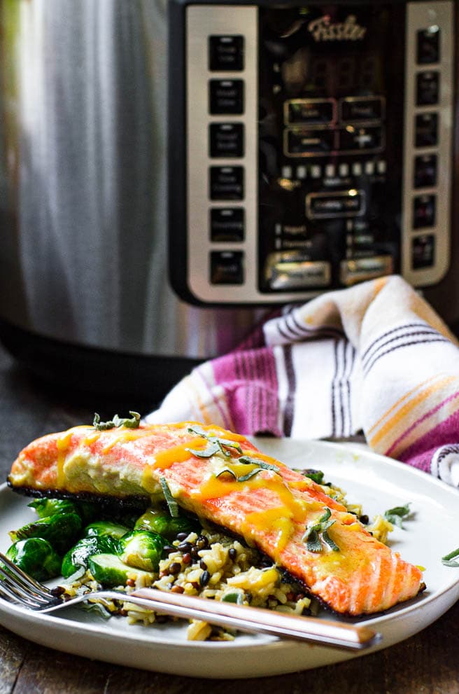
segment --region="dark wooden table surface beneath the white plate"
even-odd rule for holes
[[[0,347],[0,477],[17,452],[49,431],[154,403],[62,394],[32,380]],[[143,408],[143,409],[141,409]],[[1,529],[2,532],[7,529]],[[249,680],[143,672],[37,646],[0,627],[0,694],[459,694],[459,603],[397,646],[328,667]]]

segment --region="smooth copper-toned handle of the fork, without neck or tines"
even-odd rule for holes
[[[202,597],[154,588],[140,588],[129,595],[143,599],[149,609],[163,609],[169,615],[201,619],[247,632],[261,632],[351,650],[369,648],[381,641],[381,634],[365,625],[343,624],[332,620],[268,611],[259,607],[213,602]],[[126,597],[126,601],[129,602],[129,596]]]

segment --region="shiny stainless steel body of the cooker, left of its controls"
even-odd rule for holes
[[[167,281],[167,1],[0,0],[0,22],[0,318],[134,354],[231,349],[260,312]]]

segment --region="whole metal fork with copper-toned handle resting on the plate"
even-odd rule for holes
[[[300,617],[155,588],[141,588],[129,594],[118,590],[99,590],[65,600],[25,574],[2,553],[0,561],[3,562],[3,566],[0,563],[0,597],[6,602],[35,612],[52,612],[80,602],[110,599],[136,604],[169,616],[204,620],[209,624],[243,632],[261,632],[337,648],[361,650],[381,641],[381,634],[365,625]]]

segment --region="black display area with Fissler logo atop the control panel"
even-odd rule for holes
[[[381,6],[377,11],[313,6],[262,13],[260,58],[271,65],[274,90],[285,98],[385,91],[388,12]]]

